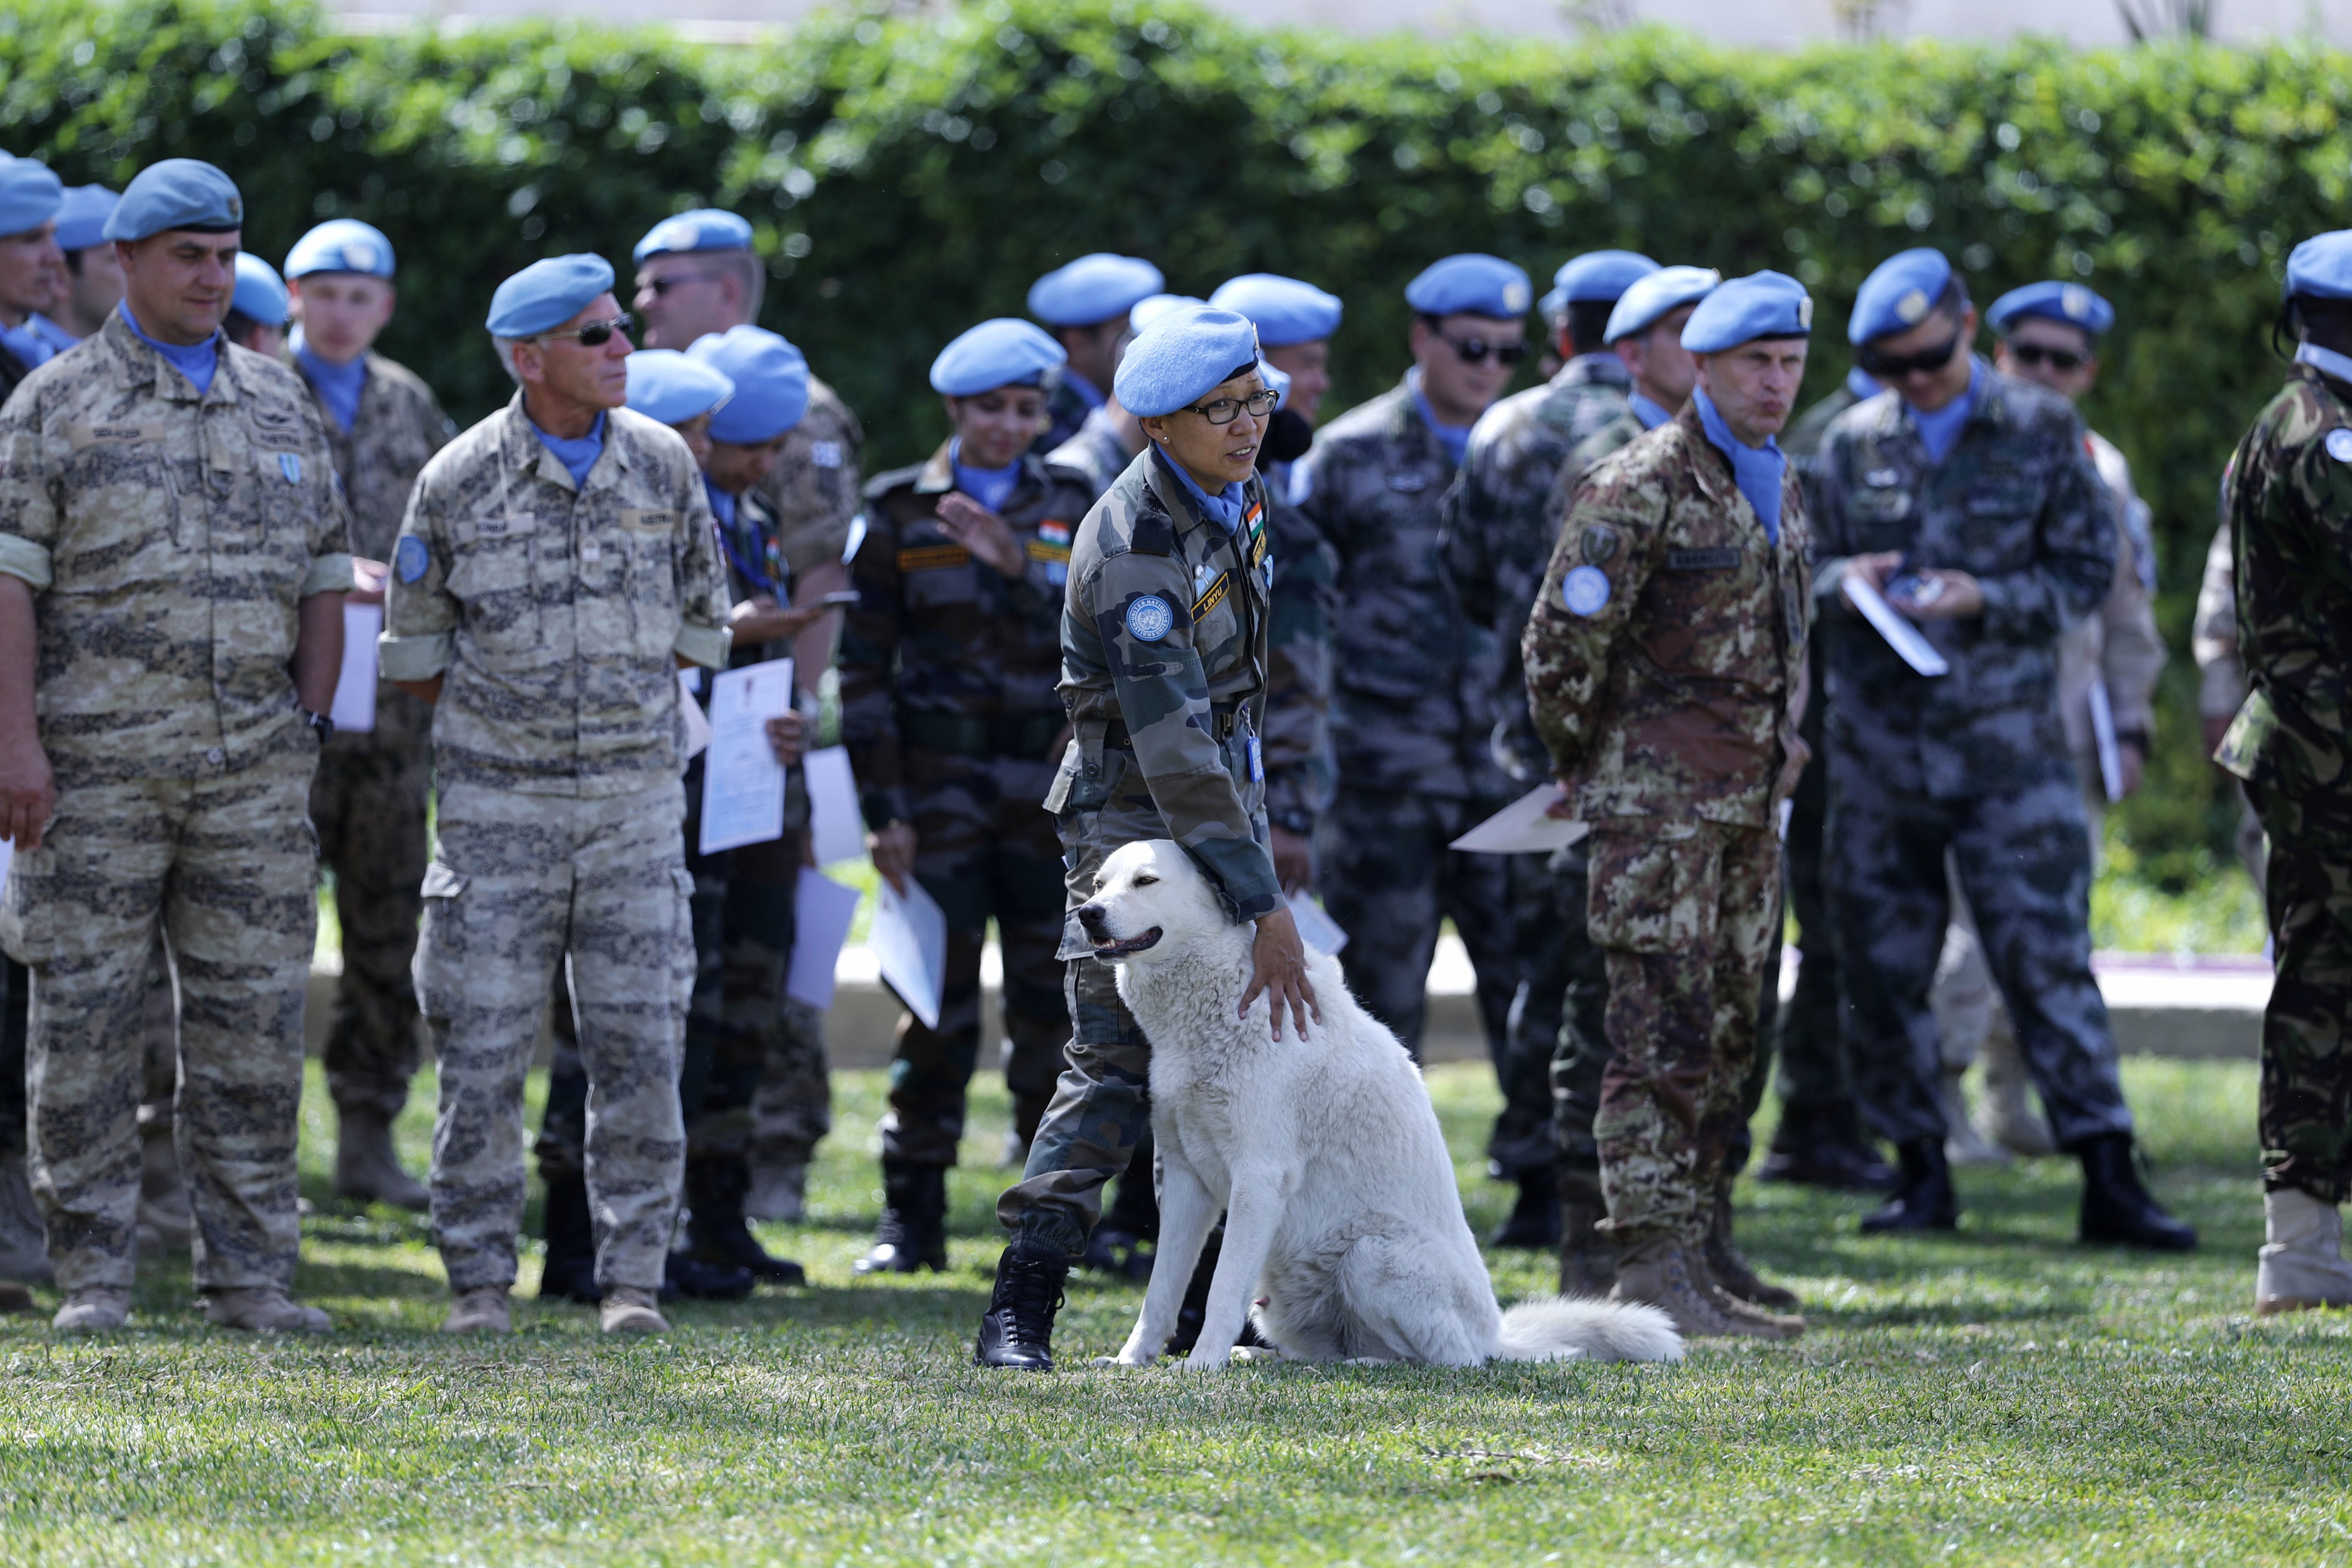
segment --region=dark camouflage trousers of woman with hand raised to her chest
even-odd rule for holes
[[[898,1018],[889,1063],[882,1159],[953,1166],[964,1138],[964,1091],[981,1056],[981,947],[997,922],[1004,959],[1004,1086],[1014,1131],[1028,1143],[1054,1098],[1061,1046],[1070,1039],[1063,1001],[1061,844],[1040,809],[1054,788],[1051,762],[957,757],[908,748],[915,809],[915,879],[948,917],[948,973],[938,1027]]]

